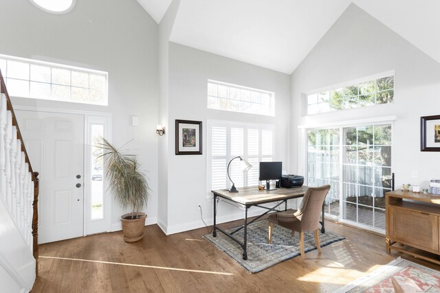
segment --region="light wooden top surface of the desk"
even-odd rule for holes
[[[211,190],[212,194],[238,202],[239,204],[263,204],[276,202],[277,200],[288,200],[290,198],[303,197],[307,186],[294,188],[278,188],[275,190],[259,190],[256,186],[241,187],[239,192],[229,192],[227,189]]]

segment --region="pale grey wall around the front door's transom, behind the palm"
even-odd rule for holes
[[[47,14],[29,1],[0,2],[1,54],[109,72],[109,106],[13,98],[14,105],[111,113],[115,145],[135,139],[152,190],[147,223],[157,217],[157,23],[135,0],[76,1],[69,14]],[[130,116],[139,126],[130,125]],[[39,171],[39,170],[35,170]],[[112,204],[113,229],[123,211]]]

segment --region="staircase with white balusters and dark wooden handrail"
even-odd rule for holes
[[[39,180],[1,72],[0,82],[0,291],[29,292],[38,275]]]

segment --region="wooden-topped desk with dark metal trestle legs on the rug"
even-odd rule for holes
[[[302,198],[307,190],[307,186],[296,187],[296,188],[278,188],[276,190],[259,190],[258,187],[243,187],[239,188],[239,192],[229,192],[227,189],[218,189],[211,190],[212,195],[214,196],[214,226],[212,228],[212,236],[217,237],[217,230],[226,236],[230,237],[236,243],[238,243],[243,248],[243,259],[248,259],[248,251],[247,251],[247,238],[248,238],[248,225],[252,224],[259,218],[263,217],[270,211],[279,211],[277,208],[281,206],[281,204],[285,204],[285,210],[287,209],[287,200],[292,198]],[[237,228],[235,231],[231,233],[227,233],[223,231],[219,226],[217,226],[217,202],[221,198],[227,202],[232,202],[239,207],[241,207],[245,211],[244,216],[244,224]],[[274,207],[264,207],[261,204],[267,204],[270,202],[278,202],[274,205]],[[261,207],[263,209],[267,209],[267,211],[258,217],[256,217],[251,222],[248,222],[248,209],[250,207]],[[324,204],[322,204],[322,225],[321,231],[325,233],[324,227]],[[239,239],[234,237],[234,233],[244,229],[244,239],[241,242]]]

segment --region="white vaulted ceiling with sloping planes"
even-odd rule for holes
[[[160,23],[172,0],[137,0]],[[354,3],[440,62],[438,0],[181,0],[170,41],[292,73]]]

